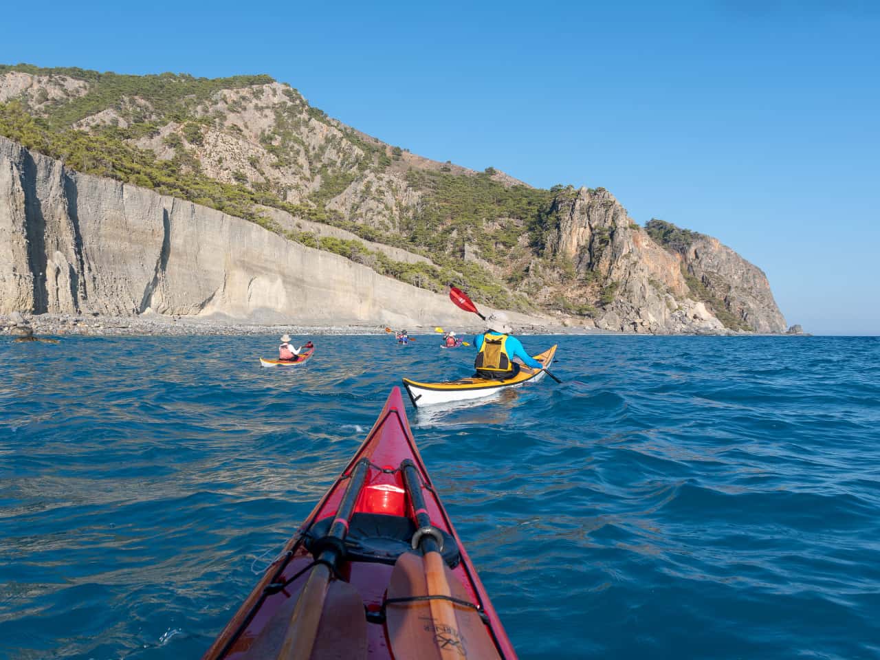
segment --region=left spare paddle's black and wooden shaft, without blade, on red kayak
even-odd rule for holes
[[[281,652],[278,654],[280,659],[312,656],[315,642],[318,640],[318,627],[321,614],[324,611],[331,568],[335,568],[344,553],[342,544],[348,535],[348,519],[355,511],[357,496],[361,494],[369,469],[370,461],[362,458],[349,473],[348,486],[345,488],[345,493],[336,510],[336,517],[324,537],[324,539],[328,539],[325,541],[326,548],[319,553],[317,559],[319,563],[315,568],[312,568],[312,572],[300,592],[297,605],[290,615],[290,626],[287,628]],[[320,540],[317,539],[316,542],[320,542]]]

